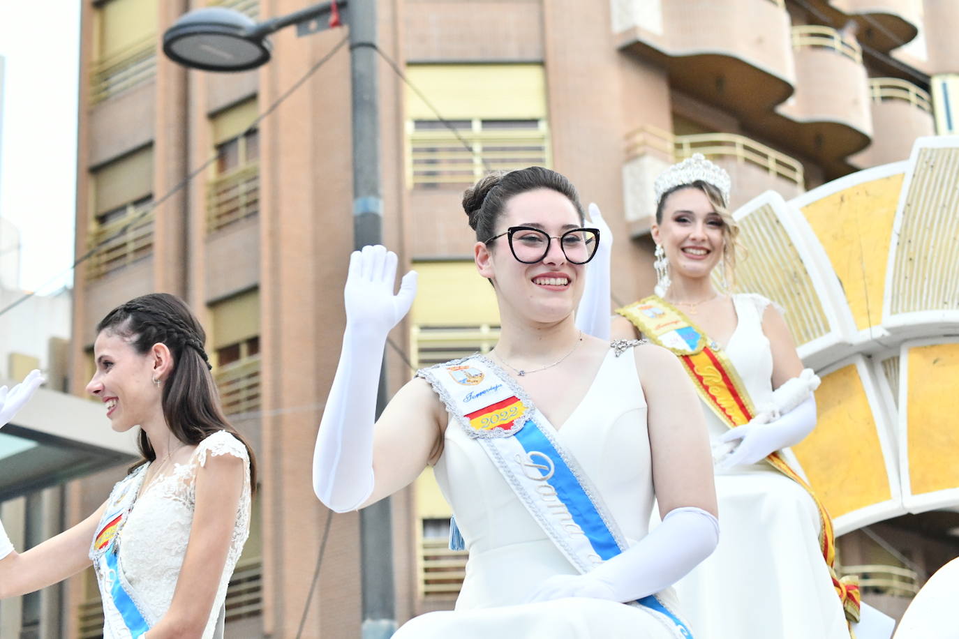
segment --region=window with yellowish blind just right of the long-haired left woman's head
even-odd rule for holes
[[[213,377],[226,415],[260,410],[260,294],[241,293],[211,308]]]

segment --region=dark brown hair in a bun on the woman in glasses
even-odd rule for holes
[[[470,218],[470,226],[477,232],[477,240],[486,241],[496,235],[496,223],[503,215],[510,197],[536,189],[551,189],[566,195],[573,202],[579,222],[583,223],[585,217],[579,194],[565,175],[543,167],[494,171],[480,178],[463,193],[463,211]]]

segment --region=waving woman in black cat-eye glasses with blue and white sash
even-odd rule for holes
[[[466,578],[455,611],[413,619],[396,637],[691,636],[668,586],[712,552],[718,531],[689,381],[663,349],[611,348],[577,331],[573,309],[601,238],[583,228],[565,177],[492,174],[463,208],[479,275],[496,289],[499,343],[419,371],[374,424],[371,381],[416,276],[393,295],[396,256],[354,253],[316,495],[352,511],[433,466],[456,517],[451,542],[469,550]],[[664,523],[647,534],[654,498]]]

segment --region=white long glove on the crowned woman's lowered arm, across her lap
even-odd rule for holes
[[[729,470],[739,464],[756,464],[771,453],[802,442],[816,425],[816,399],[810,393],[803,402],[773,422],[753,420],[737,426],[719,438],[723,444],[738,442],[736,448],[715,465]]]

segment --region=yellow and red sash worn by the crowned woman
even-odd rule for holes
[[[666,300],[651,295],[639,302],[618,308],[616,312],[632,322],[643,332],[644,337],[679,357],[700,399],[713,410],[721,422],[735,428],[753,419],[756,410],[733,363],[719,350],[718,345],[707,337],[706,332],[696,327],[682,311]],[[766,457],[766,461],[802,486],[815,502],[820,521],[819,545],[823,559],[830,569],[832,585],[842,602],[846,619],[850,622],[859,621],[858,582],[852,577],[839,579],[833,568],[835,535],[830,513],[807,482],[786,464],[778,451]]]

